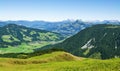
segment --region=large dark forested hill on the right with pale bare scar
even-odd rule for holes
[[[77,56],[108,59],[120,56],[120,26],[94,25],[51,46]]]

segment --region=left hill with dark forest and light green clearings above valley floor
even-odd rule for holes
[[[0,47],[20,45],[32,41],[58,41],[63,39],[58,33],[8,24],[0,27]]]

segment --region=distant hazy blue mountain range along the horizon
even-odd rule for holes
[[[19,21],[1,21],[0,26],[5,26],[6,24],[10,23],[60,33],[66,37],[72,36],[78,33],[80,30],[95,24],[120,24],[120,22],[117,20],[104,20],[104,21],[64,20],[59,22],[19,20]]]

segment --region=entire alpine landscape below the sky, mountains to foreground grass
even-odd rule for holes
[[[119,71],[120,22],[1,21],[1,71]]]

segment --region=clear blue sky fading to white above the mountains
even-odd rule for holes
[[[0,20],[120,20],[120,0],[0,0]]]

